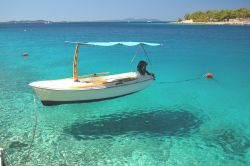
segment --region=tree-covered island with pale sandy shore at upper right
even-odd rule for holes
[[[177,24],[236,24],[250,25],[250,9],[240,8],[236,10],[208,10],[187,13],[184,19],[175,22]]]

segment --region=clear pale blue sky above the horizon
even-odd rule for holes
[[[0,22],[101,21],[149,18],[173,21],[209,9],[250,8],[250,0],[0,0]]]

